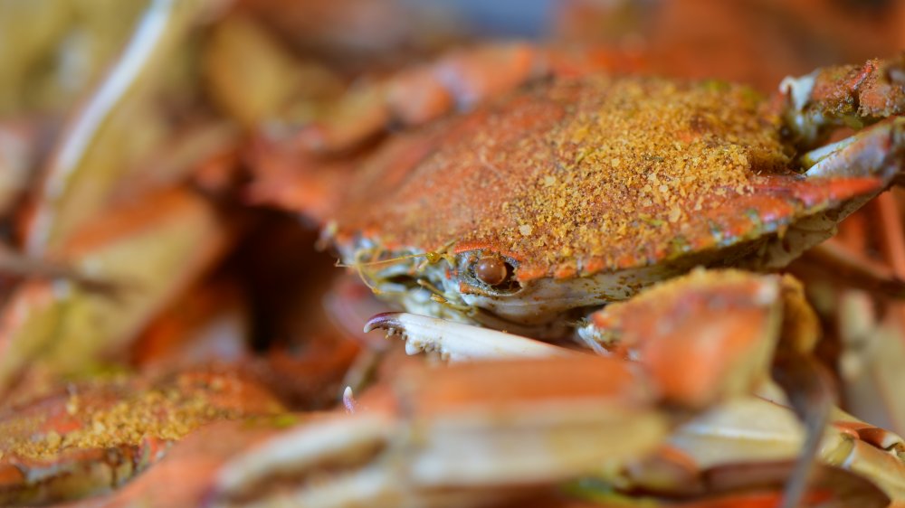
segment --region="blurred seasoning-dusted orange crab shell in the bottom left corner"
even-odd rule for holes
[[[0,503],[52,503],[110,490],[195,428],[281,409],[259,381],[217,367],[155,380],[71,383],[0,410]]]

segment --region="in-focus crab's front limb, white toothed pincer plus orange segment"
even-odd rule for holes
[[[606,306],[589,317],[579,335],[597,353],[641,363],[665,400],[702,408],[765,381],[780,338],[788,352],[810,351],[816,317],[801,291],[792,278],[699,270]],[[799,325],[786,330],[786,321]],[[409,354],[437,352],[451,362],[580,354],[423,315],[379,314],[365,331],[377,328],[402,335]]]

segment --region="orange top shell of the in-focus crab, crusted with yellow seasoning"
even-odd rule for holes
[[[572,278],[744,245],[882,190],[788,169],[756,92],[715,82],[555,79],[397,136],[332,234],[386,251],[490,250],[515,278]],[[753,244],[752,244],[753,247]],[[744,251],[742,252],[744,254]]]

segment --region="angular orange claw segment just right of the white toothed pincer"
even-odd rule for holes
[[[767,378],[782,315],[782,278],[699,270],[605,306],[579,334],[643,363],[669,400],[704,407]]]

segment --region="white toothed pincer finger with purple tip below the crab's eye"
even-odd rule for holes
[[[389,335],[401,335],[406,353],[433,351],[450,362],[574,354],[561,347],[490,328],[404,312],[375,315],[365,325],[365,333],[376,329],[386,330]]]

